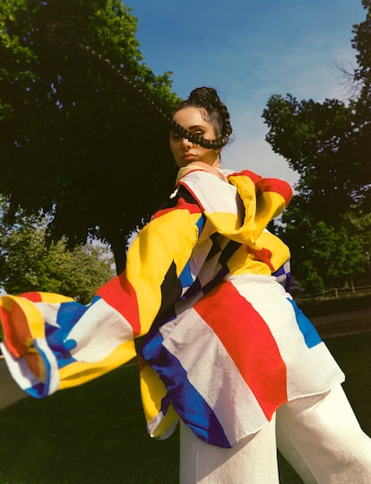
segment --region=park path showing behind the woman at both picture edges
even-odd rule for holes
[[[341,312],[332,316],[312,318],[323,339],[371,331],[371,307]],[[0,409],[26,398],[26,394],[13,382],[4,359],[0,359]]]

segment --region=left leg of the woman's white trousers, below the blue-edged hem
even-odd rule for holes
[[[205,444],[180,427],[180,484],[277,484],[275,418],[230,449]]]

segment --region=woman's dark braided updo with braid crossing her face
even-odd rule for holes
[[[200,108],[205,110],[207,115],[207,121],[210,121],[215,129],[217,136],[216,140],[207,140],[201,136],[192,135],[186,128],[178,125],[172,120],[171,128],[177,131],[181,136],[186,137],[190,141],[202,145],[205,148],[220,148],[226,145],[229,141],[229,136],[232,134],[232,127],[229,122],[229,111],[227,106],[220,101],[218,92],[213,87],[197,87],[190,94],[186,101],[182,101],[177,109],[173,112],[177,113],[178,110],[184,108]]]

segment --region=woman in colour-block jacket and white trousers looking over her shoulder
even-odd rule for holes
[[[289,185],[221,169],[229,113],[198,88],[173,116],[179,167],[168,204],[130,247],[125,272],[89,306],[5,296],[4,356],[43,397],[140,358],[151,436],[181,421],[180,482],[278,482],[280,451],[305,482],[371,481],[371,442],[343,374],[288,285],[289,250],[266,225]]]

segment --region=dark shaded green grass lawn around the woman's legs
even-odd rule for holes
[[[348,375],[345,390],[371,434],[371,332],[327,340]],[[178,436],[147,436],[136,366],[0,411],[1,484],[176,484]],[[280,459],[281,484],[298,484]]]

